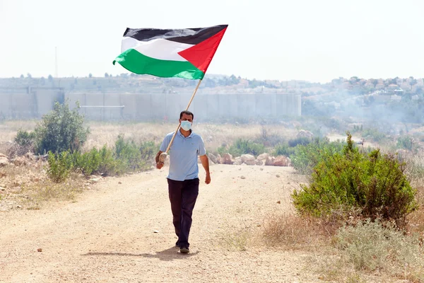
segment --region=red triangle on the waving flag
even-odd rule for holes
[[[218,45],[223,39],[225,30],[227,30],[227,28],[216,33],[216,35],[209,37],[207,40],[178,52],[178,54],[188,62],[192,63],[196,68],[206,73],[209,64],[211,64],[213,55],[215,55]]]

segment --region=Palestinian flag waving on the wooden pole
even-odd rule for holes
[[[135,74],[203,79],[228,25],[163,30],[127,28],[114,59]]]

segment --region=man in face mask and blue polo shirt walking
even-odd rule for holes
[[[194,115],[190,111],[179,114],[181,127],[170,146],[170,171],[167,176],[168,192],[171,202],[173,224],[178,240],[175,244],[180,253],[189,253],[189,233],[192,227],[192,213],[199,195],[199,166],[197,156],[200,156],[202,166],[206,171],[205,183],[211,183],[209,161],[206,156],[204,141],[192,131]],[[156,154],[156,168],[163,167],[159,156],[166,151],[174,132],[167,134]]]

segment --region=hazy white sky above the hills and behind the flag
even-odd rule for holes
[[[331,81],[424,77],[421,0],[0,0],[0,77],[104,76],[129,28],[228,24],[206,73]]]

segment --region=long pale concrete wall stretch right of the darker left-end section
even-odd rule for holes
[[[79,100],[81,112],[89,120],[175,119],[187,108],[191,94],[66,94],[73,107]],[[300,116],[300,95],[276,93],[198,94],[189,110],[196,120],[220,118],[281,118]]]

